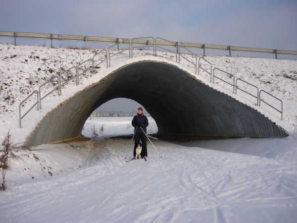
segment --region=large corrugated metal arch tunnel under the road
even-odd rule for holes
[[[258,111],[203,84],[180,68],[155,61],[125,65],[49,112],[27,138],[32,147],[81,135],[92,111],[114,98],[145,106],[165,135],[286,137]]]

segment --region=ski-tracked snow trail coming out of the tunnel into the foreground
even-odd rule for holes
[[[148,144],[147,162],[126,163],[131,140],[102,138],[84,168],[12,185],[1,194],[0,222],[297,219],[296,163],[151,140],[162,159]]]

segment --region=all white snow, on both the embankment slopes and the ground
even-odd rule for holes
[[[0,135],[10,129],[14,142],[21,143],[47,112],[68,97],[125,64],[153,60],[176,65],[210,87],[257,109],[290,136],[194,142],[164,142],[150,137],[162,158],[148,141],[148,161],[126,163],[127,154],[127,159],[132,157],[132,117],[88,119],[82,133],[92,137],[94,125],[97,139],[14,152],[18,157],[8,160],[8,189],[0,192],[0,222],[296,223],[297,61],[204,57],[236,78],[244,78],[281,98],[283,121],[279,113],[253,105],[253,98],[242,93],[235,95],[222,83],[209,83],[207,74],[195,74],[193,65],[183,59],[178,64],[172,61],[175,57],[170,53],[160,52],[155,57],[136,51],[134,58],[125,54],[112,57],[111,67],[101,64],[98,73],[88,73],[78,86],[69,83],[62,89],[62,96],[51,94],[42,101],[41,111],[34,109],[23,119],[20,129],[19,103],[54,72],[70,68],[94,53],[1,44]],[[103,57],[99,56],[99,60]],[[44,89],[43,95],[52,86]],[[22,112],[29,108],[28,104]],[[148,133],[156,132],[157,126],[149,118]]]

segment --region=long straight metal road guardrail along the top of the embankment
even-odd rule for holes
[[[96,43],[125,43],[127,40],[132,42],[132,39],[123,39],[123,38],[106,38],[106,37],[92,37],[92,36],[74,36],[74,35],[59,35],[59,34],[43,34],[43,33],[25,33],[25,32],[7,32],[0,31],[0,37],[10,37],[14,38],[14,45],[16,45],[17,38],[30,38],[30,39],[43,39],[50,40],[51,47],[53,40],[61,41],[82,41],[85,42],[85,48],[87,47],[87,42],[96,42]],[[162,38],[160,38],[162,39]],[[163,39],[162,39],[163,40]],[[147,40],[135,40],[133,44],[142,44],[147,45]],[[155,44],[156,46],[167,46],[175,47],[176,43],[171,41],[149,41],[149,45]],[[210,45],[210,44],[196,44],[196,43],[178,43],[180,47],[194,48],[194,49],[203,49],[203,55],[205,56],[205,50],[225,50],[229,51],[229,56],[231,56],[231,51],[239,52],[253,52],[253,53],[266,53],[274,54],[277,59],[278,55],[297,55],[297,51],[288,51],[288,50],[277,50],[277,49],[264,49],[264,48],[250,48],[250,47],[235,47],[235,46],[223,46],[223,45]]]

